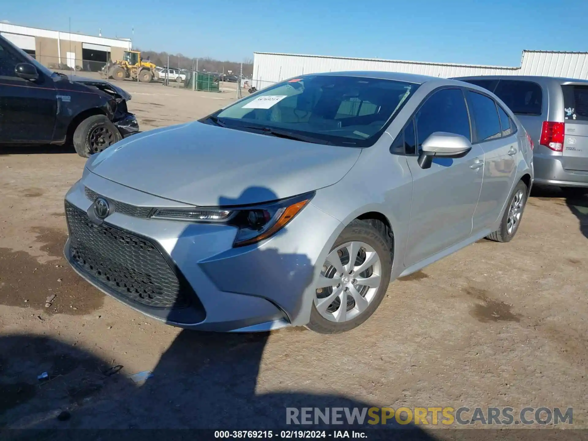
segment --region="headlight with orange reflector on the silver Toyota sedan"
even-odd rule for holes
[[[305,193],[282,201],[235,208],[158,208],[151,218],[233,225],[239,228],[234,246],[243,246],[273,236],[306,206],[312,196],[314,193]]]

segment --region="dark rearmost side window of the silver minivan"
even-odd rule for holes
[[[494,93],[515,115],[541,115],[543,91],[537,83],[501,79]]]

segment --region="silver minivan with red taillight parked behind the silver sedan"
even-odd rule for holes
[[[588,81],[549,76],[456,78],[495,93],[534,143],[535,183],[588,193]]]

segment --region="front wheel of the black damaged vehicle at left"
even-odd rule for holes
[[[76,127],[72,141],[75,151],[83,158],[100,153],[113,143],[121,141],[122,135],[104,115],[92,115]]]

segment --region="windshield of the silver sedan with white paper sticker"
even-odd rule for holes
[[[212,119],[232,129],[368,147],[418,87],[389,79],[308,75],[270,86]]]

